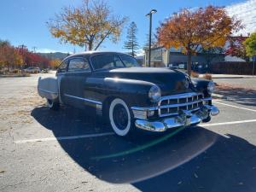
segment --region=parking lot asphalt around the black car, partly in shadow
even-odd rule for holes
[[[90,112],[50,111],[37,79],[0,79],[0,191],[256,190],[256,97],[216,99],[211,122],[127,140]]]

